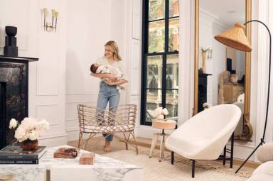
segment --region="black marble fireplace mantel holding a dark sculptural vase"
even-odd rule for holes
[[[14,131],[9,130],[9,120],[22,121],[28,116],[28,62],[33,61],[38,61],[38,58],[0,55],[0,148],[11,144],[14,139]]]

